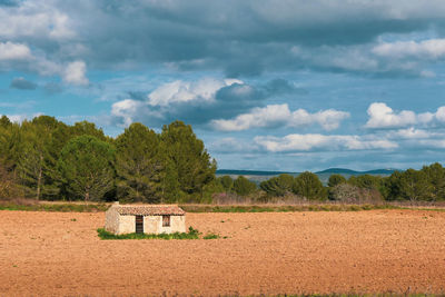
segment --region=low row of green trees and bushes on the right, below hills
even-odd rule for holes
[[[297,177],[287,174],[259,184],[259,189],[270,197],[296,195],[309,200],[358,201],[444,201],[445,168],[438,164],[424,166],[419,170],[394,171],[388,177],[362,175],[346,179],[332,175],[325,187],[318,176],[306,171]]]

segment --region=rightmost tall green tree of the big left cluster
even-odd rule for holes
[[[191,127],[181,121],[164,126],[161,146],[165,151],[164,192],[170,200],[180,196],[202,198],[202,189],[215,180],[216,161]]]

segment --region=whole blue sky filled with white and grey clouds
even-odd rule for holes
[[[220,169],[445,161],[443,0],[0,0],[0,115],[192,126]]]

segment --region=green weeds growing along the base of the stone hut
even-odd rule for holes
[[[115,235],[102,228],[97,229],[100,239],[199,239],[199,231],[189,227],[188,232],[174,232],[174,234],[121,234]],[[206,238],[212,239],[212,238]]]

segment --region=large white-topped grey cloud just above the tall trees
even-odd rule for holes
[[[145,108],[135,109],[135,116],[149,126],[161,126],[177,119],[204,126],[215,118],[230,118],[261,105],[267,96],[263,89],[237,79],[207,77],[161,83],[145,97],[138,93],[137,98],[134,96],[132,99],[126,98],[118,102],[139,101],[138,105]],[[127,111],[127,119],[132,118],[130,112]],[[147,112],[145,117],[144,112]],[[152,112],[157,117],[149,116]],[[116,112],[112,116],[119,117]]]

